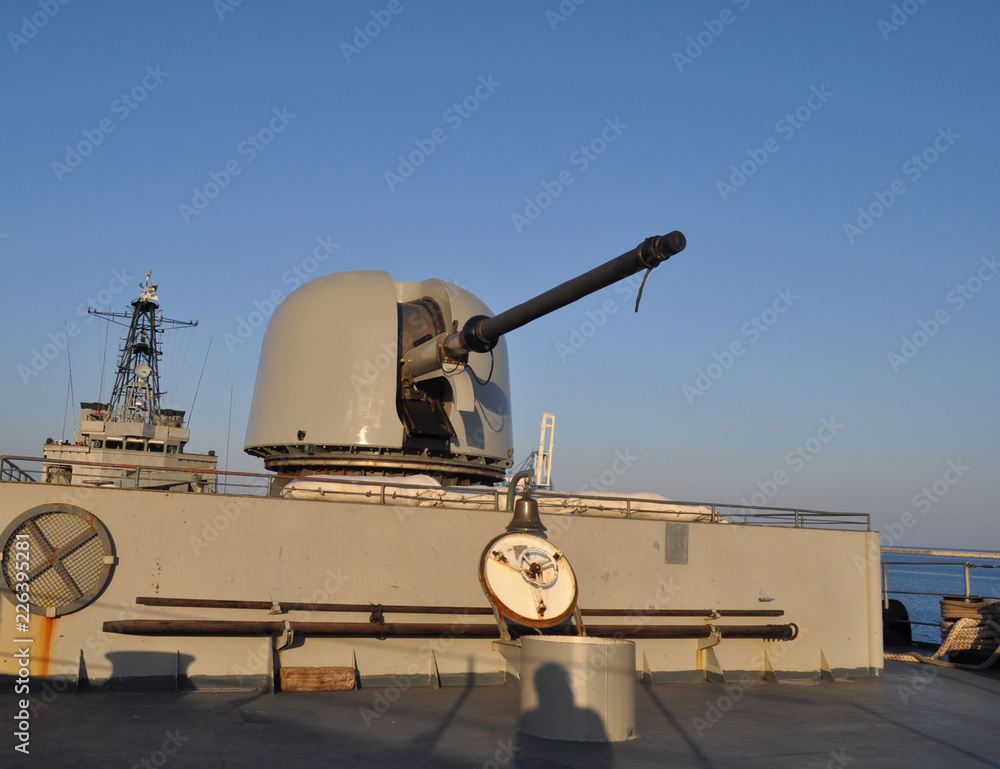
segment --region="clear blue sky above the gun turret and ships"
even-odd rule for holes
[[[263,332],[226,335],[296,270],[439,277],[499,311],[679,229],[638,315],[609,289],[510,335],[517,460],[551,411],[564,489],[628,452],[614,490],[1000,549],[1000,9],[896,6],[10,0],[2,451],[61,434],[67,358],[36,353],[67,328],[97,399],[104,324],[77,308],[125,309],[147,270],[200,321],[167,348],[171,405],[211,342],[191,449],[229,431],[256,469]]]

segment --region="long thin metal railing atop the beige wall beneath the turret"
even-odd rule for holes
[[[18,463],[31,467],[23,470]],[[37,466],[38,469],[34,469]],[[305,480],[300,476],[278,473],[248,473],[226,470],[188,469],[178,467],[155,467],[127,465],[85,460],[44,459],[39,457],[0,456],[0,481],[6,482],[59,482],[58,469],[68,467],[72,471],[75,486],[113,485],[119,488],[150,489],[156,477],[167,474],[188,478],[185,485],[192,490],[230,496],[276,496],[287,483]],[[35,478],[34,476],[38,477]],[[80,482],[80,478],[84,478]],[[323,480],[320,478],[319,480]],[[146,482],[149,481],[149,482]],[[65,483],[65,481],[63,481]],[[172,484],[172,485],[177,485]],[[418,493],[446,495],[438,500],[438,506],[474,507],[476,509],[507,509],[507,487],[433,487],[408,484],[406,478],[399,480],[381,477],[359,476],[357,478],[337,477],[336,489],[321,494],[344,501],[378,502],[380,504],[415,504]],[[662,518],[677,519],[678,514],[689,515],[689,520],[706,523],[736,525],[780,526],[788,528],[825,528],[871,531],[871,516],[867,513],[828,512],[805,508],[788,507],[748,507],[746,505],[719,502],[690,502],[648,498],[644,495],[594,494],[591,492],[536,491],[543,513],[589,515],[596,517],[620,518]],[[434,500],[420,500],[420,504],[432,505]],[[558,512],[552,507],[561,508]],[[546,509],[548,508],[548,509]]]

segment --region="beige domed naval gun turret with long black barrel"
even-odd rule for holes
[[[381,271],[316,278],[275,310],[245,450],[293,474],[426,474],[492,483],[511,465],[503,336],[686,245],[677,231],[493,315],[459,286]],[[640,289],[641,291],[641,289]]]

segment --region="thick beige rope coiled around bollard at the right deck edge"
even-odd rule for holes
[[[1000,601],[966,603],[950,598],[941,599],[941,637],[944,639],[934,654],[886,654],[887,660],[922,662],[946,668],[982,670],[1000,659]],[[978,665],[942,660],[949,651],[992,652],[989,659]]]

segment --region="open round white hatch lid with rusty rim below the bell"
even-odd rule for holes
[[[535,534],[511,532],[490,542],[479,561],[479,582],[501,614],[528,627],[558,625],[576,608],[573,568]]]

